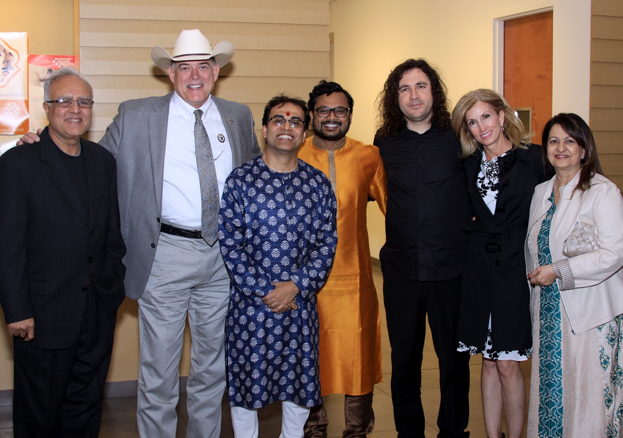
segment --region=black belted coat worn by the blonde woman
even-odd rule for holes
[[[498,159],[495,215],[476,186],[481,159],[482,152],[476,151],[464,161],[477,219],[464,224],[470,236],[459,340],[484,348],[491,315],[493,350],[524,350],[532,346],[524,244],[535,186],[546,180],[541,146],[516,149]]]

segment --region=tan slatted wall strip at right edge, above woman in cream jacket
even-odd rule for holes
[[[623,2],[593,0],[591,129],[606,176],[623,189]]]

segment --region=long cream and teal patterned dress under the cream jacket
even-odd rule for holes
[[[552,264],[551,207],[528,232],[529,260]],[[531,288],[533,358],[528,438],[623,437],[623,341],[621,315],[575,334],[564,310],[558,279]]]

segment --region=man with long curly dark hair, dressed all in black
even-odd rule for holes
[[[470,219],[460,143],[447,90],[424,59],[389,74],[379,95],[379,146],[387,172],[386,243],[379,258],[392,348],[399,438],[424,438],[421,366],[426,315],[439,358],[439,438],[468,437],[469,356],[457,351],[461,273]]]

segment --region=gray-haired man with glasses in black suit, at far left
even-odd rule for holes
[[[49,126],[0,157],[0,303],[14,336],[14,436],[97,437],[123,302],[117,166],[80,138],[93,90],[73,69],[44,84]]]

